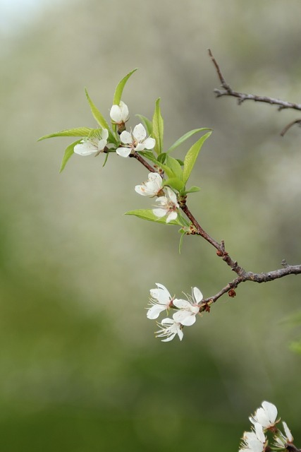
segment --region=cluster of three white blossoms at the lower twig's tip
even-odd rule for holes
[[[169,342],[178,335],[182,340],[183,328],[195,323],[202,299],[202,292],[197,287],[193,287],[192,296],[188,295],[187,299],[178,299],[171,297],[163,284],[156,283],[156,289],[150,290],[149,304],[151,307],[147,309],[147,319],[158,319],[161,312],[168,312],[170,309],[176,310],[172,319],[166,317],[161,322],[157,322],[160,329],[156,331],[156,337],[164,338],[163,342]]]

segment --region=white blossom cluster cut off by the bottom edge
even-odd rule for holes
[[[271,447],[284,451],[289,444],[293,444],[293,435],[288,425],[282,422],[284,433],[276,427],[280,422],[277,415],[278,410],[273,403],[262,402],[262,406],[250,417],[252,430],[243,434],[239,452],[268,452],[271,451]],[[272,437],[271,446],[268,434]]]

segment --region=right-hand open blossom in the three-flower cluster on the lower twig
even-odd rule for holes
[[[173,314],[173,319],[181,323],[184,326],[191,326],[196,321],[196,316],[199,314],[199,303],[203,299],[202,292],[193,287],[192,297],[189,299],[174,299],[173,305],[176,306],[179,311]]]

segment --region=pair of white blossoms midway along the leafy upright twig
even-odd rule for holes
[[[166,217],[166,223],[176,220],[178,216],[178,201],[174,191],[163,186],[163,179],[157,172],[150,172],[147,182],[135,186],[135,191],[142,196],[156,198],[156,207],[152,209],[157,218]]]

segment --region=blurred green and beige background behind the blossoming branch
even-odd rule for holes
[[[68,162],[72,141],[39,136],[94,126],[84,87],[107,118],[113,90],[152,117],[165,143],[214,129],[190,208],[240,265],[300,263],[297,112],[232,98],[233,88],[301,97],[299,0],[0,0],[0,448],[5,452],[237,451],[248,415],[269,400],[300,430],[300,277],[245,283],[182,343],[161,343],[145,315],[149,289],[214,295],[233,279],[202,239],[123,213],[152,201],[132,159]],[[188,145],[191,145],[188,143]],[[183,157],[187,148],[179,149]],[[297,441],[296,441],[297,442]]]

